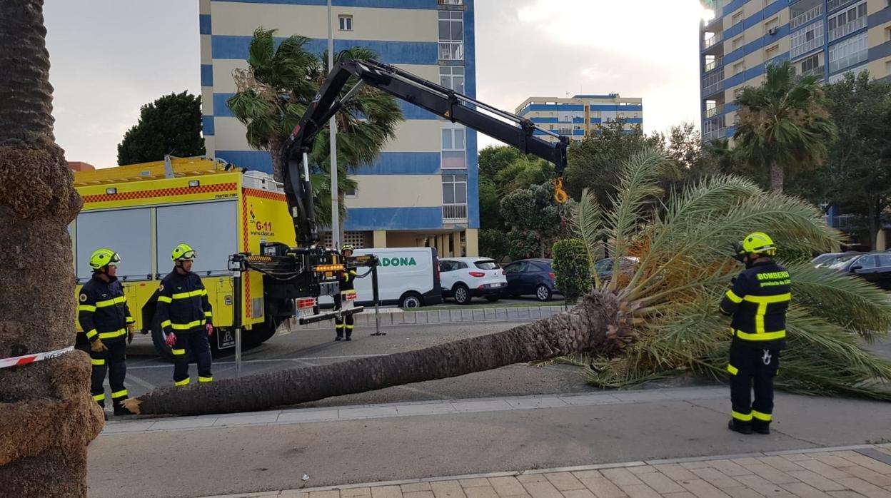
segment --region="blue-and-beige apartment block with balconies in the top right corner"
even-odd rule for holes
[[[714,17],[700,26],[702,136],[730,138],[733,102],[758,86],[767,65],[835,82],[847,72],[891,75],[889,0],[702,0]]]

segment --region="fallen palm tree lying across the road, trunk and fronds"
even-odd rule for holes
[[[145,413],[250,412],[563,355],[588,355],[597,369],[589,375],[601,385],[678,371],[724,376],[731,338],[716,307],[740,269],[729,254],[732,242],[764,230],[787,249],[835,249],[841,236],[809,203],[769,195],[732,176],[687,187],[651,217],[642,208],[658,193],[666,160],[659,151],[634,155],[620,168],[613,209],[601,211],[590,193],[584,209],[576,209],[585,241],[606,243],[610,254],[637,256],[640,263],[622,279],[601,282],[568,313],[404,353],[161,388],[127,405]],[[649,222],[643,231],[642,221]],[[789,272],[796,298],[777,386],[809,395],[891,398],[891,364],[862,341],[891,329],[885,292],[812,265],[790,265]]]

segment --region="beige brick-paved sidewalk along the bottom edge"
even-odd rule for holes
[[[216,498],[891,498],[891,445],[630,461]]]

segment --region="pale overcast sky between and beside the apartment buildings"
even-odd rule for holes
[[[197,0],[45,3],[56,141],[68,160],[117,164],[139,108],[200,94]],[[699,0],[476,0],[478,99],[642,97],[646,131],[699,126]],[[494,143],[480,135],[479,146]]]

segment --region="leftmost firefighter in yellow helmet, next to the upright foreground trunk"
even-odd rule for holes
[[[120,257],[111,249],[96,249],[90,256],[93,278],[86,282],[78,295],[78,322],[84,330],[78,333],[75,344],[86,351],[93,363],[90,393],[105,408],[105,373],[109,372],[111,404],[115,415],[130,412],[124,408],[127,388],[127,342],[133,342],[134,319],[127,307],[127,297],[118,282]],[[127,342],[125,342],[127,338]],[[105,415],[108,420],[108,415]]]

